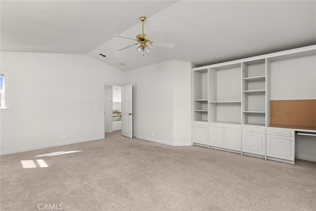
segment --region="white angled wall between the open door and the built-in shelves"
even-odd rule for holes
[[[133,84],[133,135],[191,145],[191,63],[169,60],[125,73]]]

